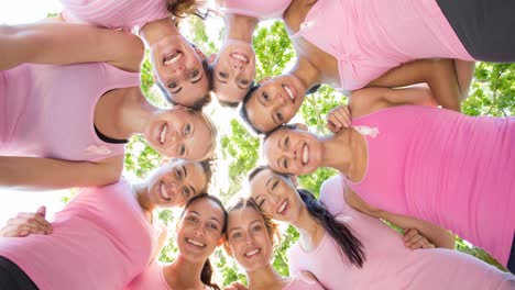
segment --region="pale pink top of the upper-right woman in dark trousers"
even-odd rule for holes
[[[332,55],[344,90],[417,58],[473,59],[435,0],[318,0],[292,37]]]

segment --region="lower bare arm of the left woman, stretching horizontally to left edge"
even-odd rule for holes
[[[0,187],[18,190],[96,187],[116,182],[123,155],[98,163],[0,156]]]

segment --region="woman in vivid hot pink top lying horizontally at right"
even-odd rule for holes
[[[265,158],[295,175],[335,168],[371,207],[449,228],[506,266],[515,231],[515,119],[403,105],[420,93],[354,91],[352,122],[331,118],[337,133],[324,137],[283,126],[265,138]]]

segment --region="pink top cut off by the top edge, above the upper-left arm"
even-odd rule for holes
[[[166,0],[61,0],[69,23],[108,29],[141,29],[147,22],[171,15]]]

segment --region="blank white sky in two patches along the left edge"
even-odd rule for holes
[[[44,19],[47,13],[61,11],[57,0],[1,0],[0,24],[18,24]],[[40,205],[46,205],[52,215],[64,203],[62,197],[69,191],[23,192],[0,189],[0,226],[18,212],[34,212]]]

